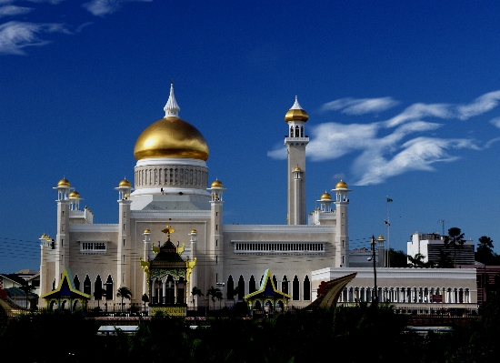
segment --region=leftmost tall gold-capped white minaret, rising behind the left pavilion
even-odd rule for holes
[[[55,286],[69,266],[69,199],[70,191],[74,189],[65,178],[57,183],[57,235],[55,236]]]

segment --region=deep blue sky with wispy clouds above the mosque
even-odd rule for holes
[[[0,272],[38,268],[63,176],[117,222],[114,187],[171,79],[225,223],[285,223],[297,95],[307,210],[344,179],[351,247],[385,233],[387,196],[391,247],[439,220],[500,246],[499,20],[494,1],[0,0]]]

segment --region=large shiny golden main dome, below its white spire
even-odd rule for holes
[[[149,157],[208,158],[205,137],[195,126],[177,116],[164,117],[147,126],[134,146],[136,160]]]

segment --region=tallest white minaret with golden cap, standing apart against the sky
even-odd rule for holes
[[[285,146],[288,153],[288,187],[287,187],[287,223],[289,225],[305,225],[305,146],[309,137],[305,136],[305,122],[309,119],[305,110],[295,104],[285,115],[288,124],[288,136]]]

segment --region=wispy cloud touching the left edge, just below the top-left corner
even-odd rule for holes
[[[23,48],[26,46],[50,43],[38,37],[42,33],[70,32],[63,24],[8,22],[0,25],[0,54],[25,55]]]

